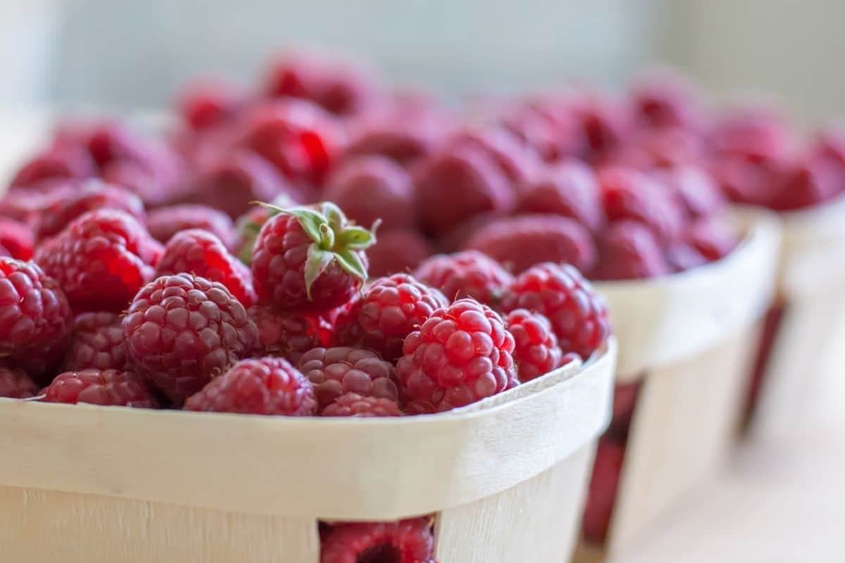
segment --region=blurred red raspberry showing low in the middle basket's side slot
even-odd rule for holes
[[[584,539],[592,544],[603,544],[608,537],[624,454],[624,445],[613,438],[598,442],[583,521]]]

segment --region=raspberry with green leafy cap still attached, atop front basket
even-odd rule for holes
[[[286,208],[261,228],[253,249],[259,300],[279,311],[327,311],[367,279],[363,250],[372,233],[351,225],[333,203]]]

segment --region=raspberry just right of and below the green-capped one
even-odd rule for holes
[[[344,346],[372,349],[385,360],[402,355],[405,337],[448,305],[439,290],[407,273],[376,279],[337,318],[335,339]]]

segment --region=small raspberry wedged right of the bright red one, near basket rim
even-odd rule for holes
[[[504,322],[514,336],[514,361],[520,382],[530,382],[561,365],[564,353],[548,318],[515,309],[504,317]]]

